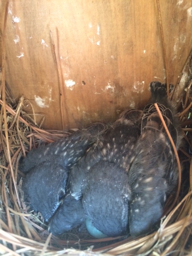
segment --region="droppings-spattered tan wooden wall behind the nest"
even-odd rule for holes
[[[192,46],[192,0],[160,0],[160,8],[176,84]],[[32,104],[45,115],[44,128],[114,120],[144,106],[152,80],[165,81],[155,0],[10,1],[6,82],[14,98],[29,100],[27,112]]]

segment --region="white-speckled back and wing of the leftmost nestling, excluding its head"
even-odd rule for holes
[[[53,143],[34,148],[25,158],[21,158],[19,168],[27,173],[46,160],[55,161],[62,166],[72,166],[105,129],[105,124],[94,123]]]

